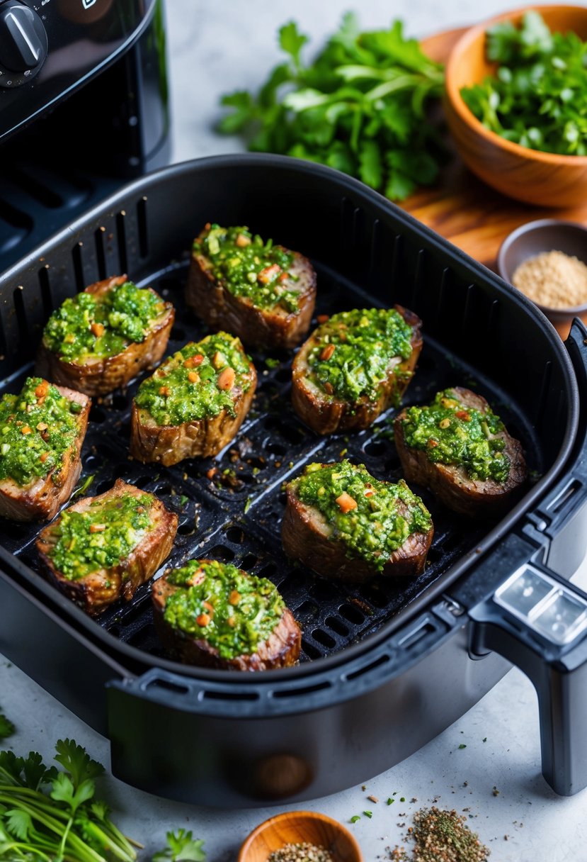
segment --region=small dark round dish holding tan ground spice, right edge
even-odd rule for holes
[[[540,219],[522,224],[505,238],[499,248],[497,270],[505,281],[512,284],[514,272],[524,260],[552,251],[576,257],[587,265],[587,228],[576,222],[561,222],[557,219]],[[573,317],[580,317],[587,323],[587,302],[556,309],[541,303],[535,304],[547,315],[561,338],[569,334]]]

